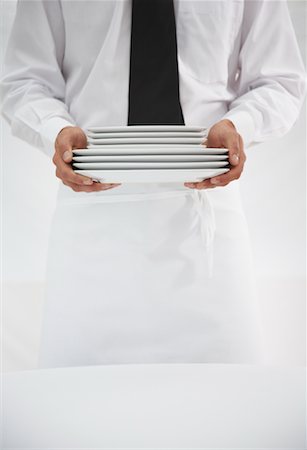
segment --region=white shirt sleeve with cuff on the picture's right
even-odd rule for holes
[[[286,1],[245,1],[231,120],[246,146],[282,137],[296,122],[306,72]]]

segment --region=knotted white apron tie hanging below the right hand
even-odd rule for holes
[[[205,189],[193,189],[192,198],[200,220],[201,240],[207,254],[209,277],[213,276],[213,249],[216,230],[215,214],[210,196]]]

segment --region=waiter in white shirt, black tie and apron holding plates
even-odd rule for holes
[[[61,180],[39,367],[263,360],[239,177],[295,123],[306,79],[285,1],[19,1],[1,81],[14,135]],[[199,183],[75,174],[90,126],[209,127]]]

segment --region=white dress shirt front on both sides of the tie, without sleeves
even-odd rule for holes
[[[66,103],[87,126],[127,125],[131,0],[63,1]],[[210,126],[236,96],[244,0],[175,0],[186,125]]]

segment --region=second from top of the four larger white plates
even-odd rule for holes
[[[74,156],[76,162],[180,162],[180,161],[226,161],[228,155],[101,155],[101,156]]]

